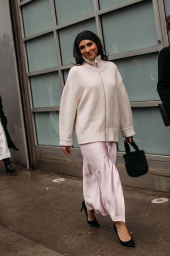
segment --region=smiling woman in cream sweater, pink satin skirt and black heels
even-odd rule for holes
[[[79,33],[73,55],[77,65],[70,69],[61,99],[60,145],[70,156],[74,128],[83,156],[82,209],[87,222],[99,227],[94,210],[109,214],[121,244],[134,247],[125,225],[122,185],[115,167],[119,129],[127,142],[135,134],[128,94],[97,35]]]

